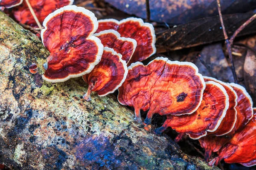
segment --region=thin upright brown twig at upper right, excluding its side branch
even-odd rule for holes
[[[232,56],[232,51],[231,51],[231,44],[230,44],[230,40],[227,37],[227,31],[226,31],[226,28],[224,26],[222,14],[221,14],[220,0],[217,0],[217,5],[218,5],[218,13],[219,13],[220,20],[221,20],[221,27],[222,27],[224,38],[225,38],[225,44],[227,46],[227,53],[228,53],[228,56],[230,58],[231,69],[232,69],[234,81],[235,81],[235,83],[238,83],[237,76],[236,76],[236,69],[235,69],[235,66],[234,66],[234,61],[233,61],[233,56]]]

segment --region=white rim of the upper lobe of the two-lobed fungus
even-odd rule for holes
[[[42,42],[44,44],[44,31],[47,30],[47,23],[48,21],[52,18],[52,17],[55,17],[56,15],[64,12],[64,11],[75,11],[75,12],[81,12],[83,13],[84,15],[90,17],[90,20],[93,22],[93,30],[91,31],[91,33],[88,35],[88,38],[91,37],[95,32],[96,30],[98,29],[98,26],[99,26],[99,23],[97,22],[97,18],[95,17],[95,15],[93,14],[93,12],[83,8],[83,7],[78,7],[78,6],[75,6],[75,5],[68,5],[68,6],[64,6],[62,8],[59,8],[57,9],[56,11],[52,12],[51,14],[49,14],[45,19],[44,19],[44,22],[43,22],[43,26],[44,26],[44,29],[41,31],[41,39],[42,39]]]

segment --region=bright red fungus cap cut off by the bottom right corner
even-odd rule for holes
[[[253,118],[221,148],[218,157],[209,162],[210,165],[217,165],[222,159],[229,164],[256,165],[256,108],[253,108],[253,112]]]

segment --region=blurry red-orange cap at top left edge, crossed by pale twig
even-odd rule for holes
[[[73,0],[29,0],[29,3],[35,12],[36,17],[38,18],[38,21],[42,24],[44,19],[50,13],[54,12],[58,8],[72,5]],[[38,27],[25,1],[23,1],[20,6],[13,9],[13,14],[19,23],[32,27]]]

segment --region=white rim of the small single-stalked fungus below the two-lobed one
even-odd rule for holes
[[[123,68],[124,68],[124,70],[125,70],[125,73],[124,73],[124,77],[122,78],[121,82],[119,83],[119,85],[116,86],[116,88],[113,89],[113,91],[110,91],[110,92],[108,92],[108,93],[106,93],[106,94],[99,95],[99,96],[106,96],[106,95],[111,94],[111,93],[113,93],[114,91],[116,91],[116,89],[118,89],[118,88],[123,84],[123,82],[125,81],[126,76],[127,76],[127,74],[128,74],[127,64],[126,64],[125,60],[122,59],[122,55],[121,55],[121,54],[116,53],[116,51],[114,51],[112,48],[108,48],[108,47],[104,47],[104,51],[111,52],[112,55],[118,57],[119,61],[120,61],[120,62],[122,63],[122,65],[123,65]]]

